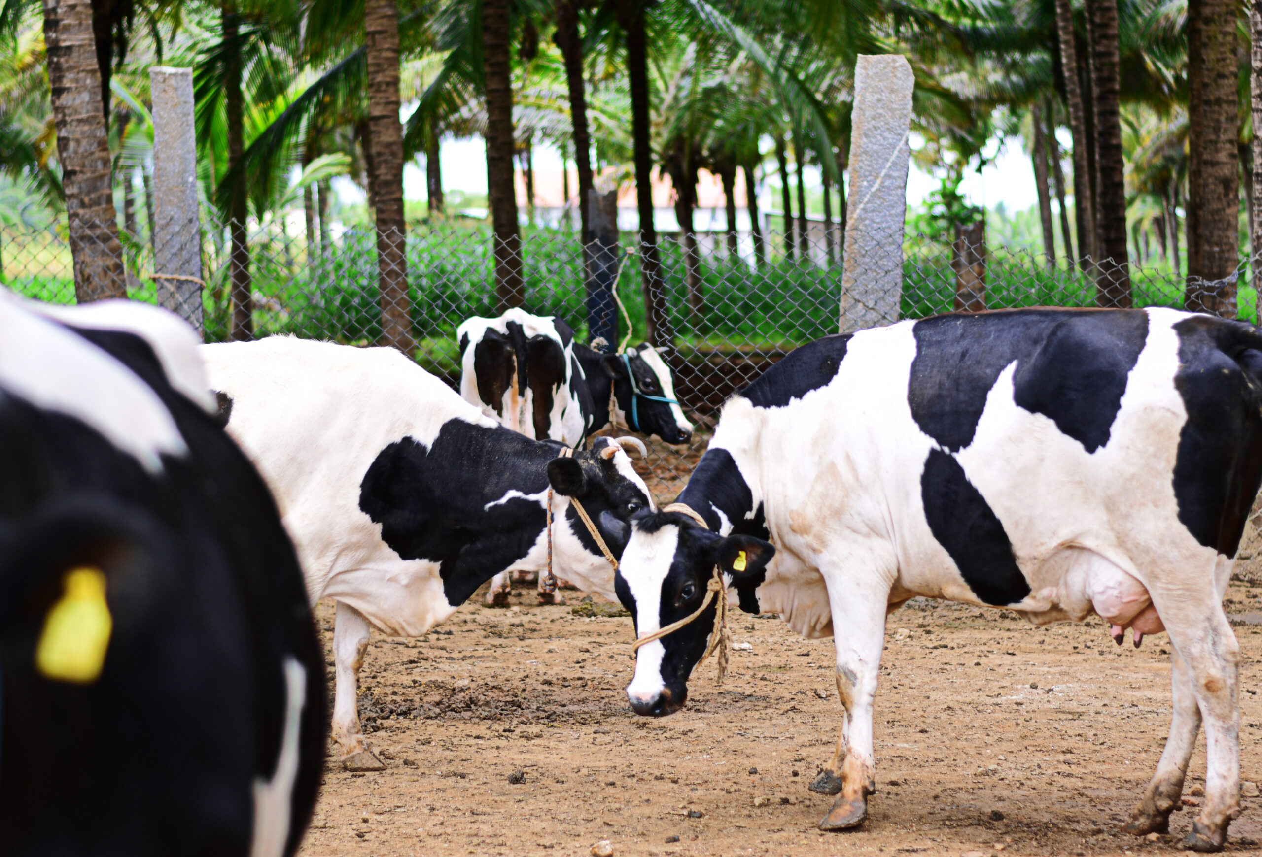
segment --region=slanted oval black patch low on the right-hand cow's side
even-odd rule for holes
[[[920,495],[929,529],[977,597],[1002,605],[1030,595],[1030,584],[1017,567],[1003,524],[955,456],[929,451],[920,475]]]

